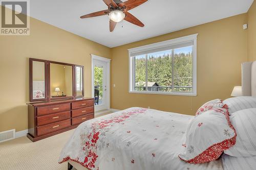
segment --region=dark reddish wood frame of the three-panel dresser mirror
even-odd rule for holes
[[[44,99],[33,99],[33,61],[40,61],[45,63],[45,98]],[[69,65],[72,66],[72,85],[73,85],[73,95],[72,96],[65,96],[59,97],[57,99],[51,98],[51,82],[50,82],[50,64],[61,64],[61,65]],[[82,95],[76,95],[76,70],[75,68],[82,67]],[[56,101],[56,100],[65,100],[65,99],[76,99],[76,98],[83,98],[84,97],[84,66],[82,65],[75,65],[69,63],[62,63],[56,61],[49,61],[49,60],[42,60],[42,59],[35,59],[29,58],[29,96],[30,102],[39,102],[39,101]]]

